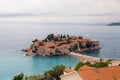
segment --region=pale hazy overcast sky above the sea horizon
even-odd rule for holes
[[[120,21],[120,0],[0,0],[0,22]]]

